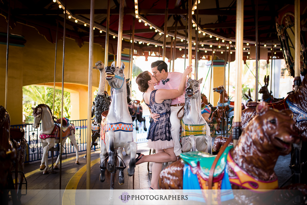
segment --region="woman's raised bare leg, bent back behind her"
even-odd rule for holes
[[[176,161],[176,160],[177,160],[177,158],[176,158],[176,155],[174,153],[174,148],[170,147],[170,148],[167,148],[167,149],[159,149],[158,152],[156,152],[156,154],[144,155],[136,163],[136,165],[141,164],[143,162],[163,163],[163,162],[171,162],[171,161]]]

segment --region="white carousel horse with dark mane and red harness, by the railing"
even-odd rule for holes
[[[51,109],[46,104],[39,104],[33,108],[34,122],[33,127],[38,128],[41,122],[41,132],[40,132],[40,141],[43,148],[43,157],[41,159],[40,170],[44,170],[43,174],[48,174],[48,150],[52,148],[55,144],[60,142],[60,119],[59,122],[53,120]],[[67,118],[63,118],[63,134],[62,134],[62,143],[66,141],[69,137],[70,141],[76,148],[76,163],[79,164],[79,152],[78,146],[75,138],[75,126],[70,123]],[[56,159],[54,168],[57,168],[60,162],[60,155]]]

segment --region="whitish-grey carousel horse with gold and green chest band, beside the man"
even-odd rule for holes
[[[182,151],[203,151],[212,154],[212,137],[208,123],[201,115],[200,83],[203,79],[188,79],[185,89],[184,115],[181,119]]]

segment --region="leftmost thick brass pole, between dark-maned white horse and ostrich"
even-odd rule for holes
[[[88,88],[87,88],[87,135],[86,135],[86,189],[91,185],[91,104],[92,104],[92,68],[93,68],[93,40],[94,40],[94,0],[91,0],[90,13],[90,41],[88,54]]]

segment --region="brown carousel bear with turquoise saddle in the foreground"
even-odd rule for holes
[[[269,106],[262,102],[256,111],[257,116],[243,131],[237,145],[234,148],[225,146],[225,151],[220,151],[219,154],[222,155],[216,166],[212,166],[215,156],[200,152],[182,153],[181,161],[170,164],[161,172],[160,188],[221,189],[221,183],[224,182],[229,184],[229,190],[250,189],[253,192],[262,192],[262,197],[272,197],[269,190],[278,188],[274,172],[277,159],[280,155],[289,154],[291,144],[297,143],[299,137],[294,130],[293,113],[290,110],[270,110]],[[192,182],[194,180],[195,184]],[[306,195],[306,187],[294,184],[284,189],[297,188]],[[243,204],[257,204],[259,199],[256,197],[259,195],[245,193],[235,195],[235,199]],[[263,203],[261,199],[258,204]]]

